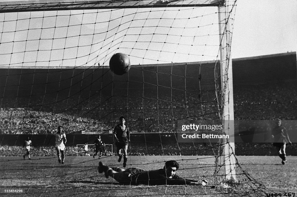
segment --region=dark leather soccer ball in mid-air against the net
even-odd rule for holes
[[[124,53],[116,53],[110,58],[109,67],[114,74],[125,74],[131,67],[130,58]]]

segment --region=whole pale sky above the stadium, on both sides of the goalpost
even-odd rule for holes
[[[0,65],[107,66],[119,52],[132,65],[217,59],[217,8],[183,9],[2,13]],[[237,1],[232,58],[296,51],[296,10],[296,0]]]

